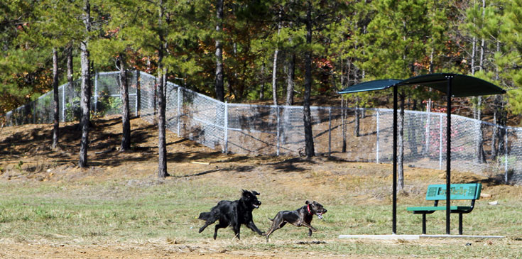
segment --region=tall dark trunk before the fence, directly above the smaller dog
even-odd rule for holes
[[[310,114],[310,92],[312,91],[312,3],[308,1],[306,11],[306,43],[308,50],[305,53],[305,96],[303,99],[303,121],[305,126],[305,154],[307,158],[315,156],[312,134],[312,115]]]

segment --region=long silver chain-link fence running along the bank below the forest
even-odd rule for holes
[[[132,72],[129,78],[131,113],[156,123],[158,79],[145,72]],[[60,87],[61,121],[79,115],[79,87],[79,82]],[[10,111],[5,116],[7,125],[51,123],[52,97],[50,92]],[[171,82],[165,87],[165,97],[166,126],[178,136],[224,153],[305,155],[302,106],[227,104]],[[91,102],[94,112],[120,113],[118,72],[97,74]],[[319,106],[310,110],[316,155],[359,162],[392,161],[393,110]],[[445,168],[445,116],[405,111],[405,167]],[[452,170],[522,182],[522,128],[452,115],[451,135]]]

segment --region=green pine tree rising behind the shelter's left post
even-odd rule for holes
[[[428,3],[424,0],[371,2],[375,15],[364,34],[364,62],[361,66],[372,77],[406,79],[418,75],[417,64],[428,54],[426,40],[430,36]],[[401,111],[398,121],[398,186],[403,189],[404,99],[419,89],[400,89]]]

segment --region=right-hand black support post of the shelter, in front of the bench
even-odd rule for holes
[[[446,110],[446,234],[450,234],[451,217],[451,83],[453,75],[447,75],[447,110]]]

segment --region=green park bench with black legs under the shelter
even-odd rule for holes
[[[453,200],[471,200],[470,206],[450,206],[451,213],[459,214],[459,235],[462,235],[462,214],[471,212],[475,205],[475,200],[480,199],[482,184],[451,184],[451,197]],[[445,211],[446,206],[437,206],[439,201],[446,200],[446,184],[430,184],[426,192],[427,201],[435,201],[433,206],[415,206],[406,208],[413,214],[423,214],[423,234],[426,233],[426,214],[435,211]]]

